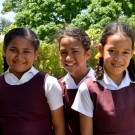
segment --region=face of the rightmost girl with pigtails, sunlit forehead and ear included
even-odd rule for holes
[[[132,41],[122,33],[111,35],[102,48],[99,46],[104,59],[104,69],[110,78],[122,78],[133,54]]]

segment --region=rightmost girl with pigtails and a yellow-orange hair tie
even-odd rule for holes
[[[135,135],[134,34],[110,23],[98,45],[95,76],[79,87],[73,109],[80,112],[82,135]]]

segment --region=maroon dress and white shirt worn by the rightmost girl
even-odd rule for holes
[[[80,85],[72,109],[93,118],[94,135],[135,134],[135,82],[125,73],[119,86],[106,73]]]

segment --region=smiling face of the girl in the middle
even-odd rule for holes
[[[82,43],[74,37],[65,36],[60,41],[60,62],[73,77],[87,72],[86,61],[91,52],[85,52]]]

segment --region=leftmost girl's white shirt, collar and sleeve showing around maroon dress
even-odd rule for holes
[[[32,79],[38,72],[39,71],[32,66],[26,73],[23,74],[23,76],[19,80],[14,74],[10,73],[8,69],[4,73],[4,78],[6,83],[10,85],[21,85]],[[55,77],[53,76],[46,77],[44,89],[45,89],[45,96],[47,98],[47,103],[49,104],[49,107],[52,111],[63,106],[62,90]]]

